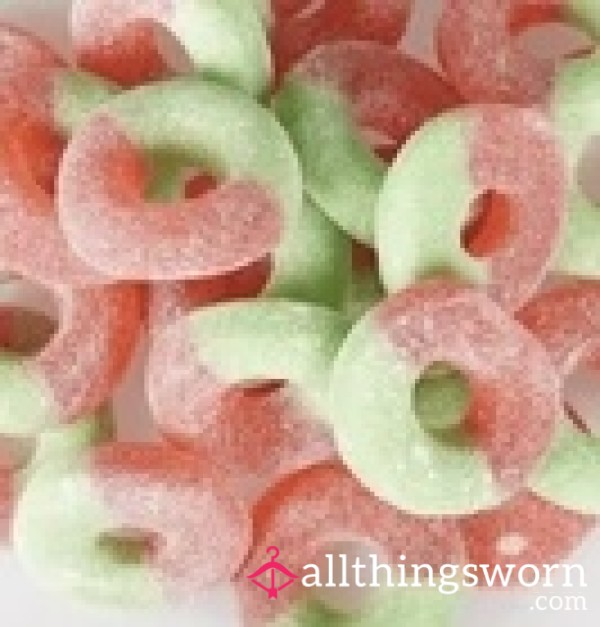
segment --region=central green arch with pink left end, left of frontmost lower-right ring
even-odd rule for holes
[[[325,307],[260,299],[197,309],[159,334],[148,364],[148,397],[161,429],[202,433],[231,386],[286,381],[327,422],[333,360],[345,318]]]

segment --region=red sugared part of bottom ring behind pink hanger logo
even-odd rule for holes
[[[268,546],[282,547],[286,567],[298,574],[336,542],[375,547],[383,563],[396,563],[404,555],[408,570],[411,564],[429,564],[434,572],[444,561],[460,559],[463,551],[454,520],[401,512],[378,500],[339,463],[316,466],[275,486],[256,509],[255,530],[238,589],[247,612],[263,620],[305,600],[297,585],[281,591],[277,601],[256,595],[245,576],[264,562]]]

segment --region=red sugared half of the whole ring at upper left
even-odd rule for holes
[[[277,245],[278,205],[260,186],[224,182],[199,199],[149,206],[148,176],[138,148],[102,115],[78,133],[63,160],[61,218],[114,278],[211,277],[264,258]]]

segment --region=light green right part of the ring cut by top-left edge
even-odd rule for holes
[[[250,95],[271,79],[265,5],[248,0],[177,0],[170,28],[203,77]]]

